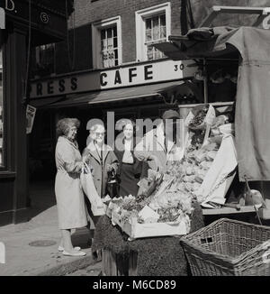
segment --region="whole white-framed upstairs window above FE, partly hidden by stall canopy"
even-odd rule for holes
[[[137,60],[157,60],[166,56],[153,45],[167,41],[171,34],[170,3],[148,7],[136,13]]]

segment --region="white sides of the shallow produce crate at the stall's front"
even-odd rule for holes
[[[122,221],[121,216],[115,211],[112,211],[112,224],[119,225],[121,230],[128,234],[131,239],[188,233],[184,221],[180,223],[139,224],[136,218],[131,218],[130,221]]]

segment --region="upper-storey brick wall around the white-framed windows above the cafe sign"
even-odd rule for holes
[[[136,30],[135,12],[154,5],[171,2],[171,29],[172,34],[180,34],[180,6],[181,0],[89,0],[75,1],[75,14],[69,19],[69,28],[76,28],[75,31],[75,70],[92,69],[92,37],[91,23],[108,19],[114,16],[121,16],[122,30],[122,62],[133,62],[136,60]],[[70,32],[69,56],[73,60],[74,34]],[[67,59],[67,44],[62,42],[58,45],[57,73],[70,71]],[[69,69],[69,70],[68,70]]]

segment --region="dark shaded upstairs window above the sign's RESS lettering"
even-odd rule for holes
[[[55,73],[55,43],[36,47],[36,74],[49,75]]]

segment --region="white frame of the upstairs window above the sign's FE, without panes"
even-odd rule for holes
[[[145,33],[147,18],[153,17],[158,14],[166,14],[166,41],[171,34],[171,3],[166,2],[161,5],[155,5],[148,8],[144,8],[135,12],[136,22],[136,60],[148,61],[147,45]]]

